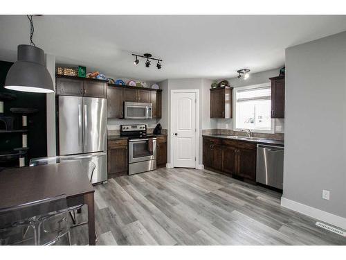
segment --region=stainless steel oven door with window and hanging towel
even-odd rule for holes
[[[129,163],[156,159],[156,138],[129,139]]]

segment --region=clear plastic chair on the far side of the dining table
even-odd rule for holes
[[[44,164],[58,164],[61,162],[67,162],[67,161],[77,160],[77,159],[80,160],[80,162],[82,163],[82,166],[84,166],[84,168],[86,169],[86,174],[89,177],[89,180],[91,182],[93,180],[93,172],[95,171],[96,166],[90,160],[80,159],[80,157],[73,157],[73,156],[40,157],[40,158],[30,159],[29,165],[30,166],[38,166],[38,165],[44,165]],[[69,209],[68,209],[69,215],[70,215],[71,220],[73,222],[73,225],[71,225],[71,228],[72,227],[78,227],[80,225],[85,225],[88,223],[87,221],[84,221],[81,223],[76,222],[75,211],[81,211],[83,206],[84,206],[84,204],[69,207]],[[97,240],[97,238],[98,238],[98,236],[96,235],[96,240]]]

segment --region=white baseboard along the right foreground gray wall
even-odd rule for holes
[[[326,211],[322,211],[320,209],[316,209],[314,207],[310,207],[307,205],[304,205],[300,202],[296,202],[294,200],[289,200],[287,198],[281,197],[281,206],[286,207],[287,209],[292,209],[294,211],[297,211],[301,214],[307,215],[311,218],[316,218],[318,220],[321,220],[325,223],[329,223],[331,225],[334,225],[336,227],[341,227],[343,229],[346,229],[346,218],[336,216],[334,214],[331,214]]]

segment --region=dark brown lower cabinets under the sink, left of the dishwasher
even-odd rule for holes
[[[233,177],[256,180],[256,144],[203,137],[205,168]]]

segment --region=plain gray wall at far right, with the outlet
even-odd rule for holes
[[[345,218],[346,32],[286,49],[285,110],[283,197]]]

